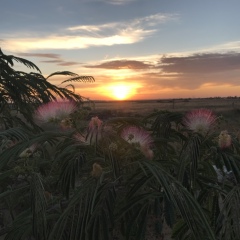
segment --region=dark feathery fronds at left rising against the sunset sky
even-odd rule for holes
[[[13,68],[14,61],[36,72],[16,71]],[[72,87],[71,84],[57,87],[48,82],[49,78],[54,76],[70,77],[62,84],[72,81],[94,81],[91,76],[79,76],[69,71],[54,72],[45,78],[34,63],[23,58],[5,55],[0,49],[0,124],[5,128],[11,128],[16,124],[26,127],[25,123],[27,122],[31,127],[37,128],[32,119],[32,113],[40,104],[57,99],[83,102],[84,97],[68,89],[69,86]]]

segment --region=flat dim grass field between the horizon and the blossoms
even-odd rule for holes
[[[103,120],[110,117],[144,117],[156,111],[188,112],[197,108],[211,109],[221,116],[222,127],[229,131],[240,129],[239,98],[194,98],[139,101],[96,101],[93,115]]]

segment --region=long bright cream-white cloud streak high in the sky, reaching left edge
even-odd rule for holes
[[[154,14],[125,22],[73,26],[65,29],[65,32],[61,30],[61,34],[55,33],[44,38],[12,37],[5,39],[3,45],[10,51],[33,51],[133,44],[156,32],[157,25],[174,18],[175,15]]]

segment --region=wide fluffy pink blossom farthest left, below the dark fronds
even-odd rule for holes
[[[74,102],[49,102],[36,110],[36,118],[44,123],[61,122],[77,109]]]

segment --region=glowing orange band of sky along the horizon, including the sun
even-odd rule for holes
[[[205,97],[228,97],[239,96],[240,86],[222,84],[203,84],[196,89],[164,88],[162,86],[151,86],[137,82],[111,82],[102,83],[95,88],[84,85],[84,88],[75,88],[76,93],[91,100],[149,100],[169,98],[205,98]]]

